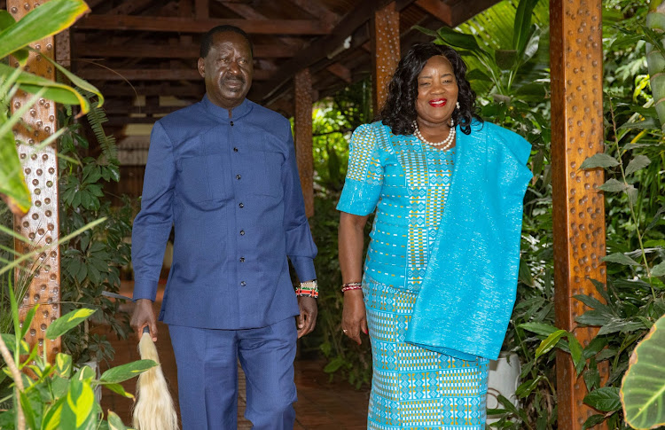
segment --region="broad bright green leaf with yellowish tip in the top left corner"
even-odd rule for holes
[[[82,0],[51,0],[35,7],[22,20],[0,33],[0,58],[59,33],[88,11],[88,4]]]

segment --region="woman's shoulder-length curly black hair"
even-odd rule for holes
[[[458,83],[459,109],[455,108],[452,119],[463,133],[471,133],[471,121],[482,121],[475,113],[475,92],[466,80],[466,65],[458,52],[450,46],[434,43],[416,43],[397,65],[393,79],[388,84],[386,104],[379,113],[379,120],[393,130],[395,135],[411,135],[415,131],[416,99],[418,98],[418,75],[428,59],[442,55],[450,61]]]

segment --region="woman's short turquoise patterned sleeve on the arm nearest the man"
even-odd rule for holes
[[[374,127],[361,125],[348,144],[348,170],[337,210],[353,215],[374,211],[383,185],[379,141]]]

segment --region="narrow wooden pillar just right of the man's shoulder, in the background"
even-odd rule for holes
[[[312,154],[312,77],[309,68],[295,74],[295,157],[301,176],[305,215],[314,215],[314,156]]]

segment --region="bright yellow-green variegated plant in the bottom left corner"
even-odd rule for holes
[[[0,353],[14,383],[11,395],[12,407],[0,411],[0,428],[7,430],[41,429],[126,429],[121,419],[109,411],[104,419],[103,411],[95,398],[96,387],[106,387],[115,393],[133,397],[120,382],[134,378],[157,364],[152,360],[139,360],[109,369],[100,379],[88,366],[74,369],[72,357],[59,353],[55,363],[47,361],[45,353],[38,354],[38,347],[28,348],[23,340],[30,322],[39,308],[36,305],[27,312],[23,325],[19,324],[19,309],[10,288],[14,333],[0,334]],[[51,323],[46,331],[48,339],[56,339],[94,313],[94,309],[76,309]],[[29,372],[29,373],[28,373]],[[28,376],[28,374],[30,376]],[[8,399],[0,399],[2,401]]]

